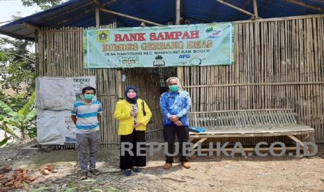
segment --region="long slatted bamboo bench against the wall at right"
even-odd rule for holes
[[[189,141],[196,141],[193,142],[194,151],[199,143],[202,144],[208,138],[288,136],[301,147],[304,147],[304,141],[314,142],[314,129],[300,124],[300,119],[293,109],[190,112],[188,118],[191,127],[206,129],[202,133],[190,131]],[[296,137],[301,135],[304,136],[302,139]],[[254,151],[253,148],[243,149]],[[279,149],[281,148],[278,147]],[[295,149],[296,147],[286,147],[286,150]]]

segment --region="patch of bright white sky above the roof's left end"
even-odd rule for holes
[[[40,12],[40,10],[38,6],[22,6],[22,1],[20,0],[0,0],[0,23],[13,19],[11,15],[26,17],[36,12]],[[0,26],[3,24],[8,23],[1,23]]]

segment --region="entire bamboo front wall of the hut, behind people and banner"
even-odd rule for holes
[[[116,28],[116,24],[102,28]],[[153,111],[147,139],[162,137],[159,87],[174,68],[83,69],[83,29],[38,31],[38,76],[97,77],[102,115],[102,147],[118,143],[113,118],[118,83],[139,88]],[[192,111],[293,108],[324,141],[324,16],[235,24],[235,64],[178,67],[178,77],[192,97]],[[121,74],[126,79],[122,81]],[[163,77],[163,78],[162,78]],[[161,83],[162,81],[162,83]]]

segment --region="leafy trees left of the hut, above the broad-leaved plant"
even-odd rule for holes
[[[0,38],[0,100],[14,110],[24,106],[35,90],[36,63],[31,46],[26,40]]]

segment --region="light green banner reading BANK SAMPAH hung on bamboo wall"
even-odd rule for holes
[[[232,65],[233,23],[89,29],[84,67]]]

